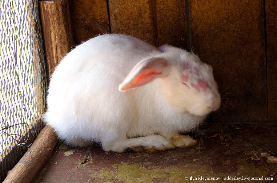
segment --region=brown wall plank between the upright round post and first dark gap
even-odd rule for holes
[[[70,14],[73,24],[75,44],[97,36],[110,33],[106,0],[72,0]]]

